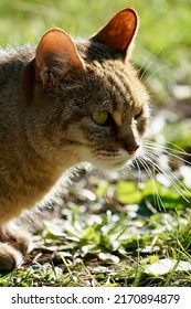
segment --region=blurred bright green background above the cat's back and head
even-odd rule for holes
[[[191,0],[0,0],[0,44],[38,42],[52,25],[87,38],[126,7],[140,19],[132,61],[163,104],[174,84],[191,83]]]

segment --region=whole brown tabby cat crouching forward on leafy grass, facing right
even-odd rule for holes
[[[0,270],[30,237],[11,221],[87,161],[118,169],[139,154],[149,95],[129,63],[138,17],[116,13],[88,40],[52,28],[36,46],[0,52]]]

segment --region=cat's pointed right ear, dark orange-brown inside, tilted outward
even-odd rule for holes
[[[132,9],[119,11],[91,40],[106,44],[120,52],[124,58],[136,34],[138,17]]]

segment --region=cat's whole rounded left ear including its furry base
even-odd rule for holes
[[[45,86],[47,74],[56,73],[64,76],[70,70],[85,70],[75,43],[61,29],[47,31],[39,42],[35,51],[35,77]]]

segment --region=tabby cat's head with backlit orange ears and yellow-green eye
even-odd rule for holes
[[[136,30],[136,12],[125,9],[87,41],[51,29],[36,47],[35,88],[56,115],[44,117],[47,139],[74,163],[120,168],[140,151],[149,97],[129,64]]]

